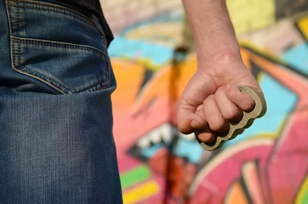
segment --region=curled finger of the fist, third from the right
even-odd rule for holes
[[[209,128],[216,133],[225,133],[229,129],[229,122],[225,120],[216,103],[215,95],[208,96],[203,102],[205,119]]]

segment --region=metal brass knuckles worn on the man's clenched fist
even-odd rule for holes
[[[238,136],[238,134],[240,133],[241,128],[250,127],[256,118],[261,118],[265,115],[267,108],[264,96],[252,87],[244,85],[239,85],[238,87],[241,91],[245,92],[255,100],[255,109],[249,113],[243,112],[243,119],[240,122],[230,123],[229,131],[223,135],[217,135],[215,140],[211,143],[202,142],[201,140],[199,140],[197,133],[195,133],[198,142],[204,150],[215,151],[220,149],[226,140],[232,140],[236,138],[236,136]]]

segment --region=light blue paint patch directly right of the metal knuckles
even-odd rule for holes
[[[223,148],[232,146],[247,138],[262,133],[277,133],[282,122],[292,112],[297,96],[272,77],[264,75],[260,86],[264,92],[267,104],[267,112],[262,118],[256,119],[254,124],[233,140],[225,142]]]

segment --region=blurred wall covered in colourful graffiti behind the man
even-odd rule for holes
[[[266,115],[217,152],[180,134],[175,103],[197,69],[180,0],[101,0],[125,204],[308,203],[308,1],[229,0]]]

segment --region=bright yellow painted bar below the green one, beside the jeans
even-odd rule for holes
[[[144,200],[148,197],[155,196],[160,192],[158,183],[155,180],[148,181],[136,188],[130,189],[123,193],[123,203],[132,204]]]

